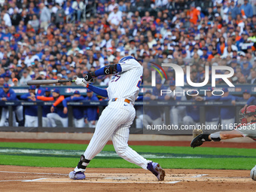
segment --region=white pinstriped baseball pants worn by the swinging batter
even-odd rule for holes
[[[127,143],[130,125],[133,123],[135,114],[135,109],[131,103],[127,104],[127,102],[121,100],[110,102],[99,117],[93,138],[84,152],[85,159],[92,160],[96,154],[102,151],[111,137],[114,150],[120,157],[147,169],[148,163],[151,161],[133,151]]]

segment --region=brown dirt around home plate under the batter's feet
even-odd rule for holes
[[[144,169],[87,169],[73,181],[70,168],[0,166],[1,191],[254,191],[248,170],[166,169],[157,181]]]

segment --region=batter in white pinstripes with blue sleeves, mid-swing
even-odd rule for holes
[[[111,78],[107,90],[87,84],[88,81],[99,75],[109,74],[114,74],[114,76]],[[110,101],[99,117],[93,138],[84,154],[81,155],[78,166],[69,173],[69,178],[84,179],[84,171],[90,160],[102,151],[111,136],[114,149],[120,157],[141,166],[143,169],[150,170],[160,181],[163,181],[165,172],[161,166],[151,160],[146,160],[127,144],[129,128],[136,115],[133,105],[139,94],[141,81],[142,66],[133,56],[124,56],[118,64],[102,67],[75,81],[75,84],[87,87],[94,93],[104,97],[108,96]]]

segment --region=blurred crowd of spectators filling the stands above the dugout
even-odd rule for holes
[[[205,66],[231,66],[236,84],[256,78],[254,0],[12,0],[1,5],[0,86],[83,77],[126,55],[135,56],[149,75],[150,62],[173,62],[191,66],[194,82],[203,81]],[[168,81],[175,79],[167,71]],[[110,78],[95,84],[106,86]]]

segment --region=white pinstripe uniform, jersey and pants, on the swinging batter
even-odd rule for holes
[[[142,80],[142,66],[136,59],[127,59],[119,64],[122,72],[114,75],[108,84],[107,91],[110,102],[99,117],[95,133],[84,152],[84,157],[87,160],[92,160],[96,154],[102,151],[111,137],[114,149],[120,157],[147,169],[148,163],[151,161],[140,156],[127,144],[130,125],[136,116],[133,105],[139,94],[138,84]],[[111,101],[114,98],[117,100]],[[129,99],[130,104],[124,102],[124,99]]]

